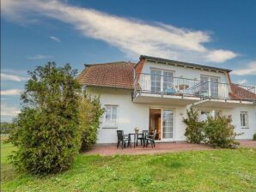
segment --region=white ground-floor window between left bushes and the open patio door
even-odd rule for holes
[[[110,110],[110,120],[107,120],[107,108]],[[113,113],[113,109],[115,109],[115,117]],[[103,128],[118,128],[118,105],[105,105],[105,114],[104,114],[104,127]]]

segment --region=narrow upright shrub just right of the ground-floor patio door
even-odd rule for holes
[[[186,123],[186,140],[189,143],[201,143],[204,141],[204,122],[198,120],[198,111],[192,108],[186,111],[187,118],[183,118]]]

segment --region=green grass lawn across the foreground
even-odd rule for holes
[[[256,191],[256,149],[79,155],[70,171],[48,177],[15,173],[13,149],[1,148],[3,191]]]

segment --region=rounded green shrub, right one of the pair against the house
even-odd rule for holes
[[[235,141],[235,126],[231,124],[232,118],[226,116],[207,117],[204,124],[206,142],[213,147],[235,147],[239,142]]]

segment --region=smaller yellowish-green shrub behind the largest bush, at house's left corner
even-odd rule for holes
[[[82,127],[81,151],[91,147],[97,140],[100,118],[104,113],[99,97],[91,98],[84,93],[80,101],[79,117]]]

